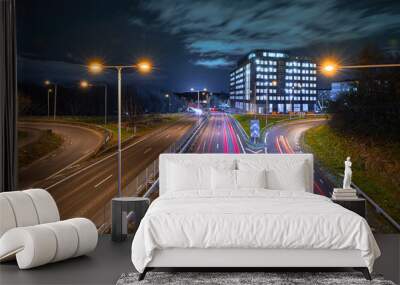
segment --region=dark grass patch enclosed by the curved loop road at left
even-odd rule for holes
[[[23,138],[27,133],[18,132],[18,137]],[[18,167],[29,165],[33,161],[44,157],[61,146],[63,139],[51,130],[42,131],[40,138],[18,150]]]

